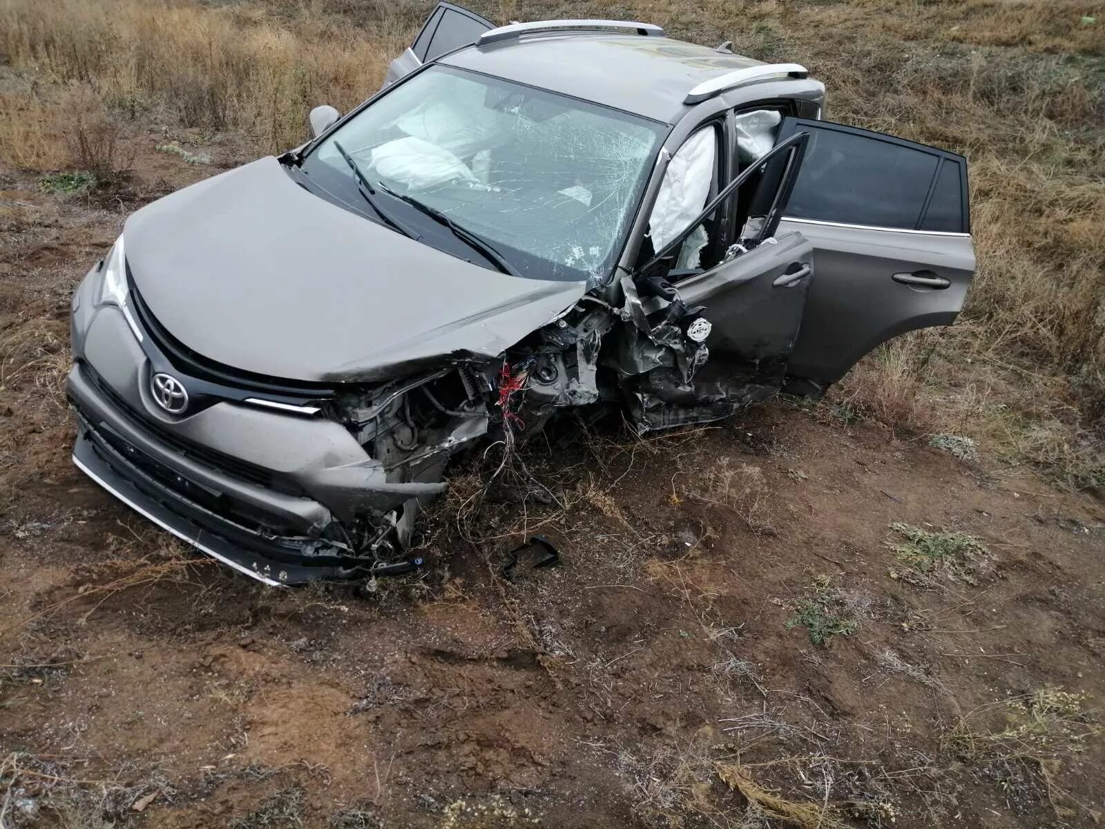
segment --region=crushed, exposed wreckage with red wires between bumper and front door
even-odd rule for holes
[[[704,309],[687,308],[662,281],[641,282],[651,303],[625,277],[622,307],[587,295],[498,360],[457,360],[330,401],[329,414],[380,463],[379,487],[347,528],[349,552],[366,569],[418,566],[404,553],[417,516],[443,492],[446,465],[465,449],[499,444],[509,453],[579,407],[596,416],[621,408],[644,433],[717,420],[775,390],[699,379],[712,327]],[[411,484],[423,484],[419,495],[410,496]]]

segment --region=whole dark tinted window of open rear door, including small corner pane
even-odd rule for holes
[[[810,143],[787,216],[902,230],[967,232],[962,157],[828,122],[788,118]]]

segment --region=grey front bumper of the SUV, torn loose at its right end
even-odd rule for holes
[[[159,364],[164,357],[136,340],[114,306],[91,315],[80,307],[73,343],[66,393],[78,418],[76,465],[146,517],[265,584],[380,571],[387,563],[360,554],[350,528],[397,507],[413,514],[420,499],[444,489],[389,480],[325,417],[234,401],[160,412],[149,392],[155,371],[193,380]]]

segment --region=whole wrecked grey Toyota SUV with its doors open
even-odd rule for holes
[[[396,573],[450,459],[818,395],[950,323],[960,156],[659,27],[439,6],[314,138],[133,214],[73,297],[74,461],[267,584]]]

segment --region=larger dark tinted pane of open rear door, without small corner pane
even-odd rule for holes
[[[940,157],[919,147],[803,124],[810,143],[787,216],[913,230]]]

